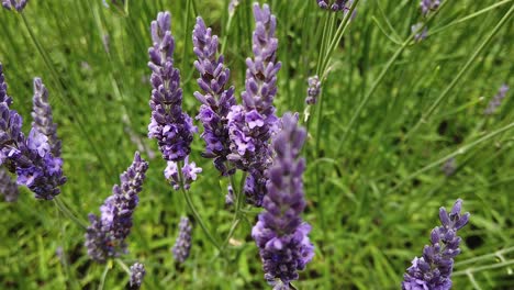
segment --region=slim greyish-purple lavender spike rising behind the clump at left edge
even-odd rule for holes
[[[60,141],[57,137],[57,125],[54,124],[52,108],[48,103],[48,91],[41,78],[34,78],[34,107],[32,127],[36,129],[48,138],[51,153],[54,157],[60,157]]]

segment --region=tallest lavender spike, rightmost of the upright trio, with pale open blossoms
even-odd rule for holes
[[[278,40],[275,37],[277,20],[267,4],[254,4],[256,29],[253,35],[254,58],[246,59],[246,90],[243,105],[233,105],[228,113],[231,154],[235,166],[249,171],[245,185],[247,201],[260,207],[266,194],[265,170],[270,164],[269,140],[277,126]]]

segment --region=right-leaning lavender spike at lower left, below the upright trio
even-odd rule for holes
[[[121,186],[100,207],[101,215],[89,214],[91,225],[86,233],[88,255],[98,263],[126,252],[125,238],[131,233],[132,215],[139,201],[148,164],[135,153],[132,165],[120,176]]]

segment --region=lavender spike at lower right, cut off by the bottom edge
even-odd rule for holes
[[[439,209],[442,226],[432,230],[431,245],[425,246],[423,256],[412,260],[412,266],[404,275],[403,290],[451,288],[454,258],[460,254],[461,238],[457,236],[457,231],[469,221],[469,213],[460,214],[461,208],[462,200],[458,199],[449,214],[445,208]]]

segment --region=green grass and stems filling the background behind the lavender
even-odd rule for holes
[[[146,138],[149,23],[158,11],[172,13],[185,110],[195,115],[199,108],[192,96],[195,15],[221,36],[231,83],[237,96],[244,90],[253,1],[241,0],[230,26],[227,2],[130,1],[128,13],[122,13],[101,0],[30,1],[25,21],[0,11],[0,62],[13,108],[25,116],[27,131],[32,78],[42,77],[68,176],[59,198],[77,216],[86,221],[89,212],[98,213],[131,164],[137,146],[127,132],[156,153],[149,159],[143,152],[150,169],[127,239],[130,254],[122,258],[127,265],[145,264],[145,289],[266,288],[250,237],[258,210],[236,230],[241,245],[220,256],[197,227],[190,258],[182,266],[174,263],[170,247],[179,216],[188,210],[182,196],[166,185],[156,143]],[[299,111],[304,118],[306,78],[320,62],[328,60],[329,68],[323,100],[310,109],[308,122],[304,219],[313,225],[315,257],[294,283],[299,289],[399,289],[411,259],[421,255],[438,224],[438,208],[449,208],[457,198],[465,200],[471,221],[461,231],[455,289],[514,289],[514,266],[509,266],[514,260],[512,93],[494,115],[483,115],[498,88],[514,85],[514,1],[445,2],[429,23],[429,37],[402,46],[411,25],[422,21],[418,1],[361,0],[328,58],[323,31],[325,40],[333,40],[342,14],[331,16],[314,0],[269,1],[282,62],[279,113]],[[202,146],[197,136],[191,158],[204,172],[191,194],[221,239],[233,215],[224,204],[227,181],[200,157]],[[449,156],[458,167],[447,178],[440,166]],[[83,231],[55,203],[22,190],[18,202],[1,202],[0,212],[0,288],[98,288],[105,266],[88,259]],[[59,248],[64,255],[56,254]],[[127,275],[120,265],[110,266],[104,289],[123,289]]]

